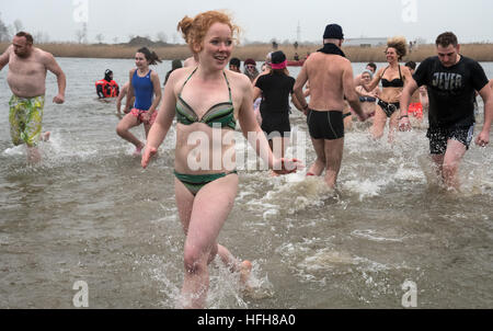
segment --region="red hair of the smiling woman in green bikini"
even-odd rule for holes
[[[231,28],[233,39],[238,42],[234,36],[240,33],[240,28],[232,23],[230,15],[220,11],[206,11],[197,14],[194,19],[184,16],[177,24],[176,30],[182,33],[186,44],[195,53],[194,47],[199,46],[202,49],[205,35],[214,23],[228,25]]]

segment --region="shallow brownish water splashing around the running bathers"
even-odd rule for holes
[[[88,284],[91,308],[174,308],[184,239],[174,130],[144,171],[115,134],[114,104],[94,91],[106,68],[123,83],[133,60],[58,60],[67,102],[50,102],[56,80],[48,75],[44,128],[53,135],[36,167],[12,147],[7,69],[0,72],[0,308],[72,308],[77,281]],[[483,65],[493,77],[493,64]],[[157,68],[161,79],[170,67]],[[299,113],[291,119],[307,132]],[[141,127],[134,132],[144,136]],[[491,148],[466,155],[461,193],[435,183],[424,129],[399,134],[391,146],[356,125],[336,192],[303,173],[240,171],[220,242],[253,262],[254,290],[244,295],[238,275],[218,264],[207,307],[402,308],[402,285],[412,281],[420,308],[492,308]],[[307,163],[313,158],[308,141]]]

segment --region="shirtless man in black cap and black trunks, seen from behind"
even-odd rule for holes
[[[351,61],[340,48],[343,39],[340,25],[328,25],[323,34],[323,48],[306,60],[294,88],[308,116],[308,128],[317,153],[317,160],[307,175],[321,175],[326,169],[325,182],[332,189],[335,187],[343,157],[344,95],[359,119],[367,118],[356,94]],[[310,104],[302,92],[307,81],[310,82]]]

